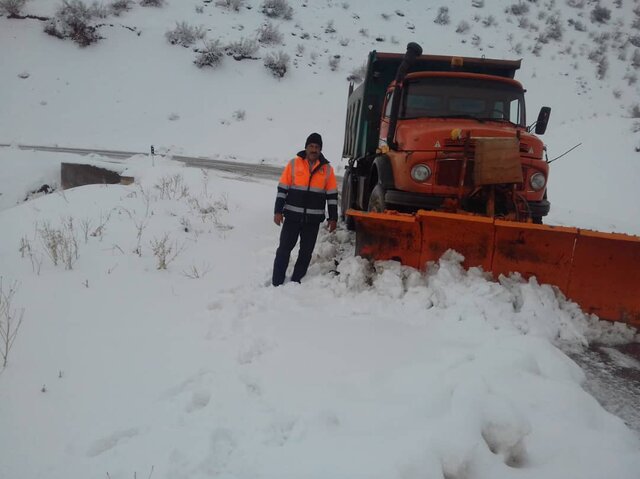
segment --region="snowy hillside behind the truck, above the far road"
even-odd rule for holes
[[[581,144],[551,165],[548,222],[640,234],[638,0],[291,1],[290,20],[267,17],[258,0],[238,11],[221,3],[131,2],[120,16],[93,21],[102,39],[86,48],[46,35],[45,22],[0,17],[0,143],[154,145],[283,165],[319,131],[340,172],[346,78],[369,51],[402,52],[417,41],[433,54],[522,58],[516,78],[527,88],[529,122],[552,107],[549,158]],[[51,17],[59,5],[29,0],[23,10]],[[596,9],[608,18],[592,18]],[[223,56],[215,69],[199,69],[193,49],[204,40],[183,48],[165,37],[182,22],[221,46],[255,40],[267,23],[281,39],[256,42],[256,60]],[[280,51],[289,68],[275,78],[263,62]]]

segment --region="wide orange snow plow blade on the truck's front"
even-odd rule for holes
[[[535,276],[587,313],[640,327],[640,237],[435,211],[347,214],[359,256],[424,269],[453,249],[465,268]]]

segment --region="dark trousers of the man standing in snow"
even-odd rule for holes
[[[278,246],[276,259],[273,262],[273,278],[271,282],[274,286],[280,286],[284,283],[284,276],[287,272],[287,266],[289,266],[289,257],[293,247],[298,242],[298,237],[300,237],[300,252],[293,268],[291,281],[299,283],[304,275],[307,274],[319,228],[320,223],[300,223],[284,220],[282,231],[280,231],[280,246]]]

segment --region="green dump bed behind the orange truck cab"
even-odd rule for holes
[[[375,153],[380,132],[380,113],[384,95],[395,79],[404,54],[369,53],[364,81],[356,88],[349,87],[347,121],[342,156],[361,158]],[[421,55],[409,73],[421,71],[469,72],[514,78],[520,60]]]

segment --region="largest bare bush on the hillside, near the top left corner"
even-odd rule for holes
[[[63,0],[55,16],[45,24],[44,31],[60,39],[70,38],[86,47],[102,38],[94,18],[95,11],[81,0]]]

